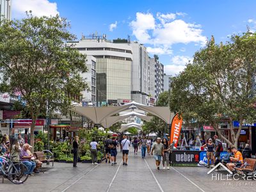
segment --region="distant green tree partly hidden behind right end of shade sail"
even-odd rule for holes
[[[168,102],[169,102],[169,93],[163,92],[163,93],[160,93],[156,106],[168,106]],[[145,134],[149,134],[150,132],[157,132],[159,136],[163,136],[163,133],[165,130],[166,130],[166,123],[158,116],[153,116],[150,122],[144,122],[144,125],[143,125],[143,132]]]

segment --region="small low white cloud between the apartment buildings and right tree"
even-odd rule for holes
[[[177,75],[182,72],[189,61],[193,61],[193,58],[189,56],[173,56],[169,65],[164,65],[164,73],[168,75]]]

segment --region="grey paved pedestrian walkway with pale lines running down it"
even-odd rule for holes
[[[5,180],[0,183],[0,191],[256,191],[255,180],[214,181],[212,175],[207,175],[209,169],[199,167],[156,170],[151,156],[142,159],[140,152],[131,152],[128,166],[122,165],[120,153],[115,166],[79,163],[73,168],[72,164],[55,163],[54,168],[29,177],[25,184]]]

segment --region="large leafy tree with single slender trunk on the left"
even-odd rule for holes
[[[65,113],[88,88],[81,73],[86,56],[68,41],[69,23],[59,17],[3,20],[0,27],[1,92],[19,93],[32,119],[30,145],[34,145],[36,118],[41,113]],[[45,114],[46,115],[46,114]]]

